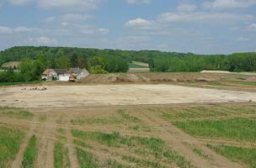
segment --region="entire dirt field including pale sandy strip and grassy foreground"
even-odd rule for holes
[[[0,167],[255,168],[254,78],[182,76],[0,87]]]

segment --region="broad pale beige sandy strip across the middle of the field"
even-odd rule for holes
[[[26,90],[23,90],[26,88]],[[171,104],[193,102],[256,102],[256,92],[159,85],[47,86],[0,88],[0,106],[16,108],[58,108],[81,106]]]

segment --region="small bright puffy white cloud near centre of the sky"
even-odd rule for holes
[[[133,29],[154,29],[156,26],[154,21],[149,21],[143,18],[136,18],[125,23],[125,27]]]

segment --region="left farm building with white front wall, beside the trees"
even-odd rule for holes
[[[42,73],[41,79],[44,81],[68,81],[69,73],[63,69],[46,69]]]

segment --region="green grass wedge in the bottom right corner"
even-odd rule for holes
[[[227,157],[229,160],[243,163],[250,168],[256,168],[256,149],[242,148],[229,145],[211,145],[207,144],[211,150],[217,154]]]

